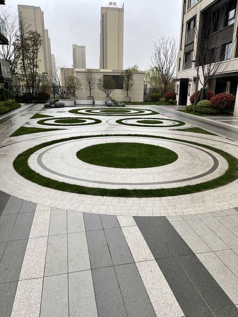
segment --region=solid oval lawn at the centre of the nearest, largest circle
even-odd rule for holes
[[[173,163],[178,155],[168,148],[144,143],[104,143],[77,152],[88,164],[120,169],[152,168]]]

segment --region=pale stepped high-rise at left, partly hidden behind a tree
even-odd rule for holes
[[[43,45],[40,48],[38,64],[38,73],[48,73],[49,76],[55,72],[55,66],[52,65],[51,44],[48,36],[48,30],[45,29],[44,12],[40,7],[18,5],[19,21],[27,26],[27,30],[33,30],[40,33]]]

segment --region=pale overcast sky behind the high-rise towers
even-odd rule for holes
[[[114,0],[115,1],[115,0]],[[56,65],[71,67],[72,44],[86,46],[86,67],[99,68],[100,7],[107,0],[6,0],[17,5],[41,7],[45,29],[51,38]],[[117,6],[123,0],[116,2]],[[134,64],[145,70],[151,64],[152,41],[161,37],[179,38],[182,0],[125,0],[124,68]]]

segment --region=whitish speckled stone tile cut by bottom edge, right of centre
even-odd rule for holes
[[[157,316],[184,316],[184,313],[157,262],[152,260],[138,262],[136,265]]]

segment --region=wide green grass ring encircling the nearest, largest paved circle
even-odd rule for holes
[[[215,147],[199,144],[191,141],[182,141],[184,143],[194,144],[198,146],[202,146],[204,148],[210,149],[225,158],[228,163],[228,169],[226,172],[219,176],[218,178],[201,183],[196,185],[188,185],[184,187],[177,188],[168,188],[168,189],[148,189],[148,190],[129,190],[129,189],[103,189],[103,188],[92,188],[85,187],[79,185],[67,184],[64,182],[58,182],[47,177],[44,177],[35,171],[33,171],[28,165],[29,157],[37,150],[46,147],[48,145],[56,144],[59,142],[64,142],[73,139],[81,139],[81,138],[90,138],[90,137],[104,137],[104,136],[139,136],[139,137],[151,137],[158,139],[167,139],[180,141],[180,139],[169,138],[169,137],[158,137],[154,135],[145,135],[145,134],[99,134],[99,135],[88,135],[88,136],[75,136],[69,138],[63,138],[59,140],[53,140],[49,142],[45,142],[34,147],[27,149],[26,151],[19,154],[14,162],[13,167],[18,174],[20,174],[23,178],[36,183],[41,186],[45,186],[48,188],[56,189],[59,191],[76,193],[76,194],[85,194],[85,195],[94,195],[94,196],[111,196],[111,197],[165,197],[165,196],[177,196],[177,195],[186,195],[192,193],[198,193],[205,190],[214,189],[220,186],[224,186],[228,183],[235,181],[238,178],[238,160],[234,156],[230,155],[227,152],[224,152]]]

